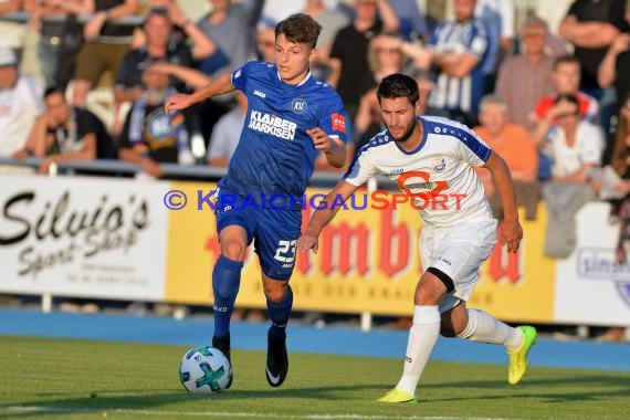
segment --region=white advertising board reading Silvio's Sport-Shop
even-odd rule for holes
[[[0,177],[0,291],[164,298],[168,182]]]

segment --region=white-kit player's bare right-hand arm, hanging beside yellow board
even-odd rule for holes
[[[501,243],[507,245],[507,252],[518,251],[518,245],[523,239],[523,228],[518,222],[518,210],[516,207],[516,195],[514,183],[510,175],[510,169],[505,161],[496,153],[492,151],[485,167],[492,175],[494,188],[498,193],[503,204],[504,218],[498,228],[498,239]]]

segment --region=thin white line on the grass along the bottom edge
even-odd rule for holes
[[[443,417],[443,416],[363,416],[363,414],[309,414],[309,416],[284,416],[279,413],[262,412],[231,412],[231,411],[154,411],[154,410],[134,410],[126,408],[97,409],[97,408],[60,408],[46,406],[10,406],[0,409],[0,412],[31,412],[42,414],[75,414],[81,412],[98,412],[137,414],[137,416],[189,416],[189,417],[218,417],[218,418],[258,418],[258,419],[312,419],[312,420],[376,420],[376,419],[395,419],[395,420],[515,420],[498,417]]]

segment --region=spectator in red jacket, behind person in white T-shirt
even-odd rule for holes
[[[558,115],[565,115],[568,109],[565,101],[558,102],[559,95],[570,95],[578,101],[578,115],[594,122],[599,113],[599,104],[592,96],[579,92],[580,63],[573,55],[556,59],[552,71],[552,83],[555,94],[538,101],[532,117],[534,124],[534,143],[540,146],[545,143],[549,128],[557,123]]]

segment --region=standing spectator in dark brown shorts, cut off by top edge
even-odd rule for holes
[[[92,0],[95,13],[85,23],[85,44],[76,56],[74,97],[76,106],[86,105],[87,93],[106,71],[116,75],[129,49],[134,27],[116,20],[138,12],[138,0]]]

